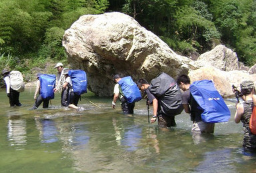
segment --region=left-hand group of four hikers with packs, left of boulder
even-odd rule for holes
[[[78,107],[77,104],[81,94],[87,92],[85,72],[64,68],[62,63],[57,63],[54,68],[57,69],[57,77],[56,75],[37,73],[34,94],[35,104],[32,109],[37,109],[42,102],[43,108],[48,108],[50,100],[54,98],[54,93],[61,92],[61,106],[84,110],[83,107]],[[22,106],[21,102],[19,102],[19,93],[24,91],[21,73],[19,71],[8,71],[4,69],[2,75],[10,106]],[[74,81],[72,81],[71,77],[75,77]],[[79,88],[79,92],[76,92],[76,88],[73,86],[73,83],[76,82],[75,80],[81,81],[80,84],[82,86]]]

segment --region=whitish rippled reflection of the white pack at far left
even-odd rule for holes
[[[24,146],[27,144],[27,122],[19,116],[11,116],[8,121],[7,138],[11,146]],[[22,148],[20,148],[22,149]]]

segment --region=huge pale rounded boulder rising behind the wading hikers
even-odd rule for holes
[[[115,74],[150,81],[161,72],[176,78],[195,69],[123,13],[81,16],[65,31],[63,47],[71,67],[87,72],[89,90],[99,96],[112,95]]]

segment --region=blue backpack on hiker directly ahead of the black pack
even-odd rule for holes
[[[118,83],[127,102],[131,103],[141,100],[141,92],[131,77],[123,77]]]

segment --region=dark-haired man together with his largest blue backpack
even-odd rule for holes
[[[193,121],[192,132],[213,133],[215,123],[229,120],[229,108],[212,81],[202,80],[191,84],[189,76],[181,75],[177,83],[184,91],[182,104]]]

